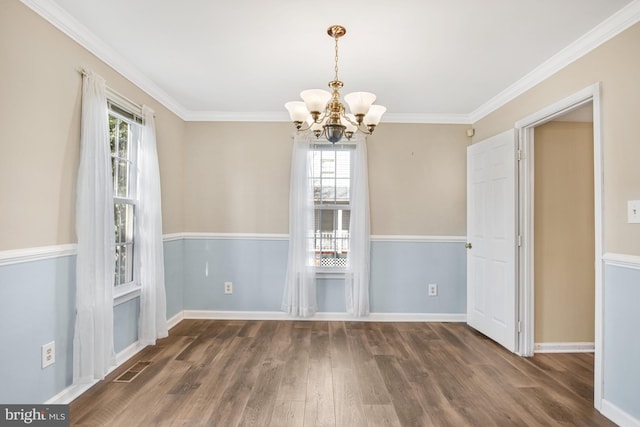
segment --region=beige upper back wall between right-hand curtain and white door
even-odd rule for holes
[[[372,234],[466,236],[468,127],[378,126],[367,145]]]

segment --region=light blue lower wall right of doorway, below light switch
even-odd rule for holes
[[[603,398],[640,420],[640,266],[605,265]]]

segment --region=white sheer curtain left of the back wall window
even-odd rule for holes
[[[317,310],[313,184],[310,176],[311,140],[306,135],[297,135],[291,156],[289,257],[282,310],[298,317],[311,317]]]

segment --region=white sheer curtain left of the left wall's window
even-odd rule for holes
[[[113,182],[105,81],[82,78],[80,165],[76,194],[76,324],[73,382],[103,379],[113,349]]]

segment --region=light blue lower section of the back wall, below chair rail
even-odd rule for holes
[[[286,240],[185,239],[184,309],[279,311],[287,249]],[[427,295],[429,283],[437,297]],[[320,312],[344,312],[343,281],[320,278],[317,301]],[[372,241],[370,301],[375,313],[465,313],[464,243]]]

